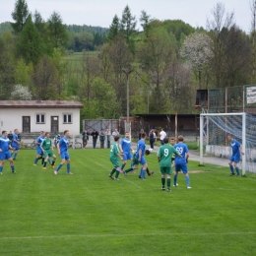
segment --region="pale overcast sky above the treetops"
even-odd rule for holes
[[[15,2],[0,0],[0,23],[12,22]],[[211,11],[218,2],[224,4],[227,12],[234,12],[236,25],[240,29],[250,31],[252,0],[27,0],[29,10],[32,13],[37,10],[44,20],[56,11],[65,24],[103,28],[109,28],[115,14],[120,18],[126,5],[136,16],[138,25],[141,11],[145,10],[160,21],[179,19],[192,27],[206,28],[206,21],[212,19]]]

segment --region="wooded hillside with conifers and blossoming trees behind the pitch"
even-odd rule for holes
[[[213,10],[204,30],[144,10],[137,20],[126,6],[104,29],[57,12],[44,21],[17,0],[0,26],[0,99],[76,99],[82,118],[118,118],[128,93],[132,115],[193,113],[197,89],[255,84],[255,26],[246,34],[224,4]],[[253,12],[256,1],[256,24]]]

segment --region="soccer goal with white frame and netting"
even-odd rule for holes
[[[242,144],[244,156],[238,163],[242,174],[256,173],[256,116],[246,113],[200,114],[200,163],[227,166],[232,154],[228,134]]]

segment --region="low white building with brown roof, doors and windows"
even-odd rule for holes
[[[51,132],[80,134],[80,108],[74,100],[0,100],[0,135],[19,129],[21,133]]]

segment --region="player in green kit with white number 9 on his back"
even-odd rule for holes
[[[163,145],[160,146],[158,152],[158,160],[160,162],[160,173],[161,173],[161,190],[165,190],[165,179],[167,178],[167,192],[170,192],[170,175],[171,175],[171,157],[172,155],[181,155],[168,144],[168,138],[163,139]]]

